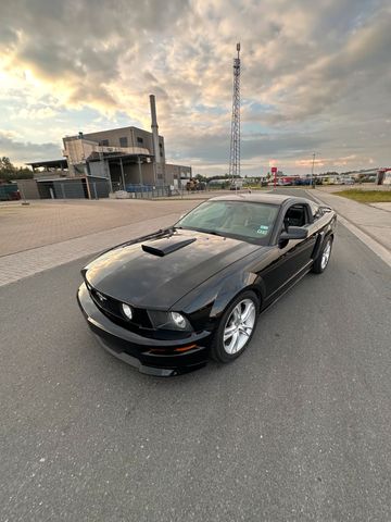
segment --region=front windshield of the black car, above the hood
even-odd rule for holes
[[[179,220],[175,227],[267,245],[277,213],[276,204],[206,201]]]

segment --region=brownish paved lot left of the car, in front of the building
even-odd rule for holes
[[[36,200],[0,203],[0,257],[195,207],[200,200]]]

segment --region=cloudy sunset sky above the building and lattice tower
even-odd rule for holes
[[[241,173],[391,166],[389,0],[0,0],[0,157],[150,129],[168,161],[228,171],[241,42]]]

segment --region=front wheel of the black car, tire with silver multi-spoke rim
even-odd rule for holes
[[[257,322],[260,300],[251,291],[243,291],[224,311],[211,348],[218,362],[237,359],[248,347]]]

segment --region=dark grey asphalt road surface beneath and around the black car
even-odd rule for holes
[[[0,288],[2,522],[391,520],[391,270],[355,236],[235,363],[169,380],[92,338],[86,261]]]

